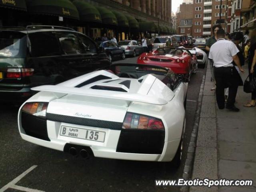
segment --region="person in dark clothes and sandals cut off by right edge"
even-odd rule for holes
[[[248,69],[249,69],[249,80],[252,81],[253,74],[256,75],[256,30],[251,35],[252,45],[248,50]],[[244,104],[245,107],[256,106],[256,90],[252,92],[252,98],[250,102]]]

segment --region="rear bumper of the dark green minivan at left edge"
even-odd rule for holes
[[[21,90],[0,90],[0,102],[24,102],[31,95],[30,87]]]

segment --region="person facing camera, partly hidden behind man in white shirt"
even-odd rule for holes
[[[221,25],[214,25],[212,26],[212,31],[213,31],[213,36],[208,38],[207,42],[206,42],[206,51],[210,51],[211,46],[217,42],[218,38],[217,38],[217,31],[219,29],[221,29]],[[216,84],[215,78],[214,78],[214,72],[213,72],[213,64],[212,61],[208,60],[208,64],[210,65],[210,70],[211,70],[211,74],[212,74],[212,79],[214,80],[214,84]],[[211,88],[211,91],[215,90],[216,86],[214,86],[213,88]]]

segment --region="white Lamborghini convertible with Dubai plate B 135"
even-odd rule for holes
[[[160,66],[113,64],[40,91],[20,107],[21,137],[80,155],[179,165],[188,84]]]

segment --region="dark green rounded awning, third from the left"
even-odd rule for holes
[[[100,12],[92,4],[84,0],[74,0],[72,3],[76,6],[81,21],[102,22]]]

